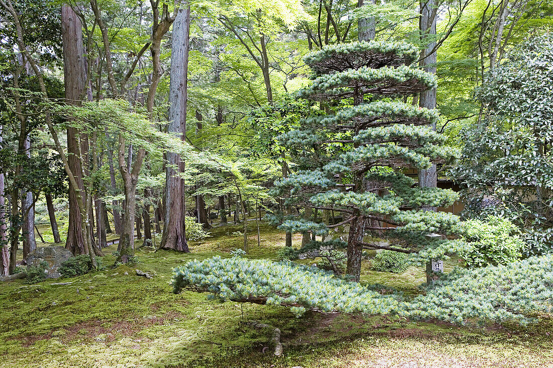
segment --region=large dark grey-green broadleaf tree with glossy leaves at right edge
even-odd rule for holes
[[[477,91],[484,115],[463,131],[452,176],[467,188],[467,217],[508,218],[528,233],[525,255],[545,254],[553,249],[553,36],[507,56]]]

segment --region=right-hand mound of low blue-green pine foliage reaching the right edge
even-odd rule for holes
[[[458,324],[479,320],[528,323],[528,314],[551,313],[553,256],[530,257],[502,266],[456,269],[410,303],[413,318]]]

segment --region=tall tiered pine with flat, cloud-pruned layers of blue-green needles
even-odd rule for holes
[[[457,194],[420,188],[404,174],[455,155],[445,138],[429,128],[439,118],[436,111],[394,101],[436,86],[433,75],[409,67],[418,55],[409,44],[380,41],[331,45],[307,55],[313,82],[299,97],[319,101],[334,113],[306,118],[278,138],[300,170],[275,182],[275,194],[296,208],[342,213],[344,220],[335,225],[305,215],[275,215],[273,220],[281,229],[316,235],[349,225],[347,274],[354,280],[359,280],[364,248],[412,253],[422,263],[462,246],[425,236],[452,232],[456,216],[424,209],[450,206]],[[364,241],[371,230],[384,232],[392,245]],[[336,248],[340,242],[309,246]]]

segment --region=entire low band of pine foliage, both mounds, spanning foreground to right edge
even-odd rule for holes
[[[175,293],[209,292],[221,301],[251,302],[322,313],[398,314],[465,324],[473,320],[531,322],[531,314],[553,308],[553,255],[531,257],[505,266],[456,269],[405,300],[381,295],[370,286],[343,280],[317,267],[294,262],[249,260],[238,256],[190,261],[177,267]]]

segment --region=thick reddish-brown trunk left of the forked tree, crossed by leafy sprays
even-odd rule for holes
[[[81,20],[69,5],[61,6],[61,35],[66,103],[79,105],[85,96],[86,88],[85,48]],[[72,183],[69,184],[69,226],[65,248],[73,254],[86,254],[88,252],[84,239],[85,229],[82,228],[81,213],[75,193],[76,190],[84,190],[81,162],[77,158],[80,151],[78,135],[79,132],[75,128],[67,127],[67,160],[79,188],[74,188]]]

